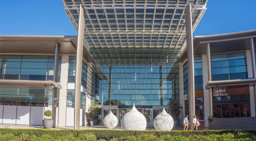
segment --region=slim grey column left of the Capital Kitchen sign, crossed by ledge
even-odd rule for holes
[[[206,54],[207,54],[208,81],[211,81],[211,47],[210,47],[210,43],[207,43]],[[213,111],[212,111],[212,88],[209,88],[209,115],[211,116],[212,113],[213,113]]]

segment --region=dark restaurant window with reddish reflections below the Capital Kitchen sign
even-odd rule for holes
[[[250,117],[250,95],[213,97],[214,117]]]

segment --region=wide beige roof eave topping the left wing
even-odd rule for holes
[[[54,54],[55,44],[61,45],[60,54],[76,54],[77,36],[27,36],[1,35],[1,54]],[[89,51],[83,49],[83,57],[92,62]]]

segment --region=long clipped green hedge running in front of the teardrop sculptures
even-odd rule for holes
[[[7,129],[1,128],[0,134],[13,134],[15,136],[21,135],[22,133],[27,135],[42,136],[49,134],[52,137],[73,135],[77,137],[80,134],[93,134],[97,139],[112,139],[128,136],[138,136],[143,133],[160,137],[162,135],[171,136],[184,136],[189,135],[221,135],[224,133],[232,133],[234,135],[238,133],[251,133],[256,135],[256,130],[203,130],[203,131],[128,131],[128,130],[73,130],[73,129]]]

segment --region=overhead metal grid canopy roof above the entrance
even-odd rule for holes
[[[195,30],[207,0],[63,0],[77,29],[79,4],[85,12],[84,41],[98,47],[184,48],[185,7],[191,4]]]

